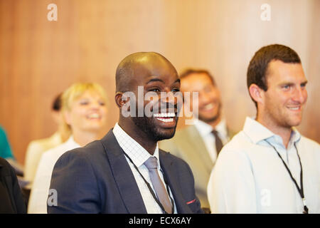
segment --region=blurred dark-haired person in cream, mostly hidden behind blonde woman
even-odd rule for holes
[[[61,112],[61,96],[62,93],[57,95],[52,104],[52,117],[55,123],[58,125],[58,130],[49,138],[43,138],[41,140],[33,140],[29,143],[26,150],[26,162],[24,168],[24,180],[30,182],[31,188],[33,179],[36,175],[38,163],[40,161],[43,152],[50,150],[53,147],[60,145],[68,140],[70,137],[70,129],[65,124],[63,114]]]

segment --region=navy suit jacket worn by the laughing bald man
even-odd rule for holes
[[[186,162],[159,150],[178,213],[201,213],[194,180]],[[50,189],[58,205],[48,213],[146,213],[142,196],[112,130],[102,140],[70,150],[55,163]]]

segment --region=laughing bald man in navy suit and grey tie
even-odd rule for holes
[[[176,69],[159,53],[124,58],[114,97],[119,122],[60,157],[50,185],[58,201],[48,213],[202,213],[190,167],[158,147],[176,131],[179,90]]]

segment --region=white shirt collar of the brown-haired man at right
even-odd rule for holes
[[[243,127],[243,132],[254,142],[257,144],[262,140],[267,140],[269,138],[274,138],[274,140],[281,141],[282,138],[279,135],[272,133],[271,130],[266,128],[261,123],[257,122],[254,118],[247,117],[245,119],[245,126]],[[301,138],[300,133],[296,128],[292,128],[292,135],[290,137],[289,143],[297,142]]]

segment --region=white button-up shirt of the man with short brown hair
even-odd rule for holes
[[[306,206],[309,213],[320,213],[320,145],[293,128],[286,149],[279,135],[251,118],[245,120],[243,130],[223,147],[211,172],[208,200],[213,213],[303,212],[302,197],[268,142],[282,156],[300,187],[298,150]]]

